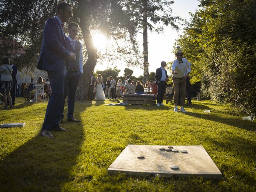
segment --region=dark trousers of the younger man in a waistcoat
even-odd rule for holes
[[[68,118],[72,118],[74,114],[74,108],[75,108],[75,96],[76,96],[76,90],[78,86],[78,82],[81,76],[80,71],[68,71],[65,80],[64,80],[64,96],[62,99],[62,108],[61,108],[61,114],[60,118],[63,119],[64,115],[64,106],[66,101],[66,96],[68,96]]]

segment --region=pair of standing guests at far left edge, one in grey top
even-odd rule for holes
[[[13,63],[13,58],[4,57],[0,66],[0,94],[2,94],[4,109],[14,108],[15,105],[15,86],[17,85],[17,67]]]

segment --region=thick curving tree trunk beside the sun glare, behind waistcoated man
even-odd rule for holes
[[[79,26],[82,30],[88,60],[85,62],[83,67],[83,74],[79,80],[78,88],[76,90],[76,100],[84,101],[89,98],[90,88],[90,75],[93,72],[97,63],[97,50],[93,46],[92,35],[90,33],[90,24],[88,18],[90,18],[89,11],[84,10],[88,7],[84,1],[78,2],[78,9],[80,11],[80,23]]]

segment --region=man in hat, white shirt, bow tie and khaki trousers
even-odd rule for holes
[[[180,98],[180,111],[186,112],[184,109],[185,104],[185,97],[186,97],[186,78],[188,77],[189,73],[191,72],[190,64],[188,60],[183,57],[183,52],[180,47],[177,47],[178,50],[176,52],[177,59],[174,60],[171,68],[172,73],[172,82],[174,86],[174,112],[178,112],[178,97],[179,92],[181,92]]]

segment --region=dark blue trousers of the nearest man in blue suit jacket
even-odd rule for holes
[[[47,71],[51,82],[52,94],[49,99],[42,130],[52,130],[60,126],[59,118],[62,107],[62,98],[64,95],[64,68],[62,71]]]

